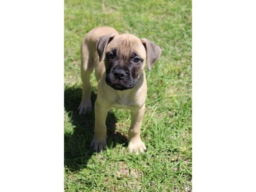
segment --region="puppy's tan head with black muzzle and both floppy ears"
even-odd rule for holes
[[[126,90],[136,85],[146,60],[151,70],[162,49],[145,38],[112,33],[98,39],[97,51],[99,61],[105,58],[106,83],[115,90]]]

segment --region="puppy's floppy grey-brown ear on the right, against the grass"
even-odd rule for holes
[[[146,49],[148,70],[151,70],[152,66],[155,64],[155,62],[157,62],[157,59],[160,57],[162,49],[156,44],[148,41],[146,38],[142,38],[141,42]]]

